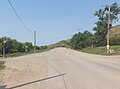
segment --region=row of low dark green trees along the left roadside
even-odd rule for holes
[[[11,39],[9,37],[0,38],[0,55],[3,54],[3,48],[5,48],[5,54],[11,54],[16,52],[30,52],[34,50],[34,46],[32,42],[18,42],[15,39]],[[47,46],[35,46],[36,50],[47,49]]]

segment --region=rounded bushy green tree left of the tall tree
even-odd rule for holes
[[[84,31],[83,33],[79,32],[73,35],[72,39],[70,40],[71,47],[79,50],[91,46],[93,45],[92,37],[93,34],[89,31]]]

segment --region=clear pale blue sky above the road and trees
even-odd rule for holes
[[[0,0],[0,37],[33,42],[33,31],[36,31],[38,46],[66,40],[78,31],[92,32],[97,22],[95,10],[114,2],[120,5],[120,0],[11,0],[24,24],[31,30],[29,32],[8,0]]]

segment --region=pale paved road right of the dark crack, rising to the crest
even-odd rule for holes
[[[50,64],[67,74],[68,89],[120,89],[119,56],[96,56],[65,48],[57,48],[44,55]],[[53,71],[50,69],[49,73]],[[62,78],[51,80],[47,84],[48,89],[66,89],[62,83]]]

